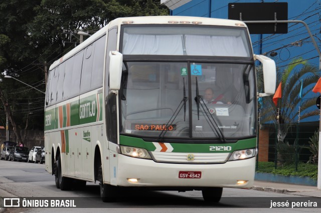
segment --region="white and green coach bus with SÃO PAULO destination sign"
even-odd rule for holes
[[[275,81],[242,21],[117,18],[50,66],[46,170],[62,190],[99,183],[103,201],[144,187],[217,202],[223,187],[253,184],[257,97]]]

